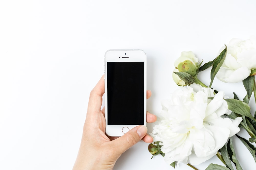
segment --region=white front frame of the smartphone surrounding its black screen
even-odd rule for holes
[[[125,55],[126,53],[126,55]],[[123,128],[128,127],[130,130],[139,125],[108,125],[108,101],[107,101],[107,62],[144,62],[144,126],[146,126],[146,53],[143,50],[108,50],[105,53],[105,120],[106,134],[109,136],[122,136]]]

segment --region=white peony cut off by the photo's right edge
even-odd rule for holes
[[[256,69],[256,37],[233,38],[227,45],[227,56],[216,77],[223,82],[237,83]]]

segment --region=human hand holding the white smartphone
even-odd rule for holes
[[[138,141],[151,143],[146,126],[136,126],[121,137],[105,134],[105,108],[101,109],[104,90],[104,75],[90,93],[86,120],[78,156],[73,170],[113,169],[120,155]],[[147,90],[147,99],[151,91]],[[147,112],[147,123],[156,121],[156,116]]]

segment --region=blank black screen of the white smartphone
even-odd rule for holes
[[[107,62],[108,125],[144,124],[144,62]]]

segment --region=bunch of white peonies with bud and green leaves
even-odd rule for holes
[[[169,100],[161,102],[160,119],[151,134],[154,143],[148,146],[153,156],[161,154],[174,168],[182,162],[196,169],[193,165],[217,155],[224,165],[210,164],[206,170],[242,169],[233,147],[234,137],[242,141],[256,162],[252,144],[256,143],[256,111],[248,104],[253,95],[256,101],[256,37],[244,41],[234,38],[220,51],[203,66],[192,51],[182,52],[174,62],[173,80],[180,87]],[[209,67],[211,81],[207,86],[197,75]],[[215,77],[226,83],[242,81],[247,94],[243,100],[236,93],[228,98],[224,91],[211,87]],[[240,128],[251,138],[238,136]]]

